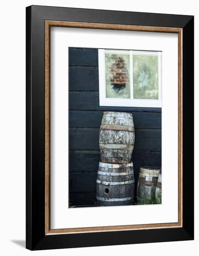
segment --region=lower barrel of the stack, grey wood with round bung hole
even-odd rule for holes
[[[96,187],[98,206],[133,204],[134,182],[133,162],[99,162]]]

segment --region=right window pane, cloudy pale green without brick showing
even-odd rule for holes
[[[133,55],[133,98],[158,99],[157,55]]]

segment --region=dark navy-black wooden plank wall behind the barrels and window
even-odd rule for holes
[[[100,107],[98,49],[69,49],[69,90],[69,199],[72,205],[96,202],[99,126],[103,111],[133,114],[132,160],[136,183],[140,166],[161,165],[161,108]]]

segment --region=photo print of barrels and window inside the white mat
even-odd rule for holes
[[[161,203],[161,56],[69,47],[69,208]]]

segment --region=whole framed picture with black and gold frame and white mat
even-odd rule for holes
[[[27,249],[192,240],[193,16],[26,22]]]

